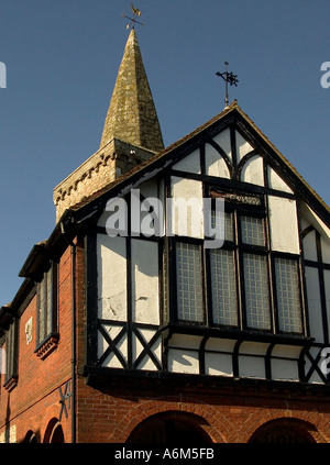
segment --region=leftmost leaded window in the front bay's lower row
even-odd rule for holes
[[[204,321],[200,246],[177,243],[177,315],[179,320]]]

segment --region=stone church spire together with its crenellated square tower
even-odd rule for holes
[[[131,31],[106,118],[100,148],[55,187],[56,221],[68,208],[109,186],[164,148],[160,122]]]

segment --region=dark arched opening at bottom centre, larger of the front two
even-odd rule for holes
[[[153,444],[205,444],[210,438],[201,428],[206,421],[184,412],[157,413],[142,421],[130,434],[129,443]]]

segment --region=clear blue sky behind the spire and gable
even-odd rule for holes
[[[230,101],[330,203],[329,0],[135,0],[165,145]],[[128,37],[127,0],[1,0],[0,305],[55,225],[53,188],[95,153]]]

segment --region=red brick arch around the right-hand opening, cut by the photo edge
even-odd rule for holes
[[[241,429],[238,432],[238,441],[248,443],[253,434],[263,425],[274,421],[274,420],[296,420],[300,422],[301,428],[305,427],[308,430],[310,436],[317,443],[328,443],[329,436],[326,431],[329,431],[329,422],[326,421],[318,414],[314,412],[304,412],[304,411],[294,411],[285,410],[274,412],[273,410],[264,410],[264,412],[256,411],[254,412],[246,423],[244,424],[244,430]],[[297,423],[298,424],[298,423]]]

